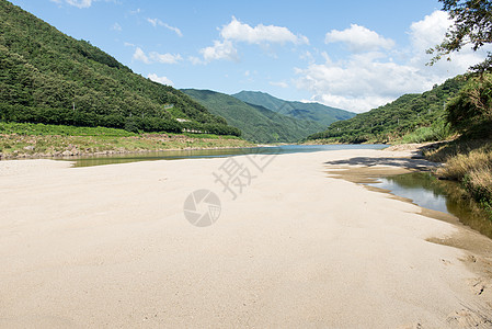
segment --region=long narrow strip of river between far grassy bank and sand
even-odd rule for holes
[[[90,167],[113,163],[127,163],[136,161],[151,160],[178,160],[178,159],[203,159],[203,158],[222,158],[230,156],[252,155],[252,154],[300,154],[316,152],[321,150],[340,149],[382,149],[388,147],[382,144],[364,145],[281,145],[268,147],[249,147],[249,148],[227,148],[227,149],[194,149],[194,150],[169,150],[145,154],[111,155],[96,157],[70,157],[76,161],[75,167]]]

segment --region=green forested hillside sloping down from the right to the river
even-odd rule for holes
[[[438,140],[449,134],[445,104],[465,86],[458,76],[422,94],[405,94],[396,101],[346,121],[333,123],[325,132],[309,139],[339,143],[390,143],[408,134],[421,135],[425,141]]]

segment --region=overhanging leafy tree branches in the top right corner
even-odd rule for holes
[[[492,1],[439,0],[439,2],[443,2],[443,10],[449,13],[454,25],[446,32],[439,45],[427,50],[428,54],[435,54],[430,65],[443,56],[450,60],[449,55],[459,52],[466,45],[471,45],[477,52],[492,43]],[[478,73],[492,71],[492,53],[489,52],[487,59],[470,67],[470,70]]]

